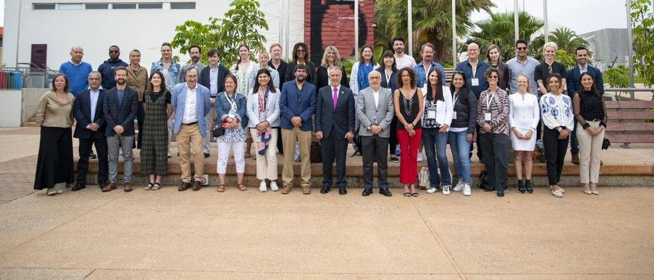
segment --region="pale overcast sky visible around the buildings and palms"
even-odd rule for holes
[[[492,0],[497,6],[494,11],[513,10],[513,0]],[[540,18],[543,17],[543,0],[518,0],[520,9]],[[577,34],[587,33],[603,28],[627,27],[625,0],[549,0],[547,10],[549,22],[553,25],[566,26]],[[487,18],[483,13],[474,14],[473,21]],[[0,0],[0,22],[5,22],[5,0]],[[552,28],[553,29],[553,28]]]

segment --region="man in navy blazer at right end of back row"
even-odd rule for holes
[[[604,79],[602,78],[602,71],[588,64],[588,48],[585,46],[577,47],[575,50],[577,56],[577,65],[568,70],[566,75],[566,88],[568,89],[568,96],[574,97],[574,94],[579,90],[579,79],[581,73],[587,72],[593,77],[595,86],[598,92],[604,94]],[[579,164],[579,140],[577,139],[577,122],[574,122],[574,130],[570,133],[570,154],[572,154],[572,163]]]

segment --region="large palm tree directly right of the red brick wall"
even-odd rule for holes
[[[413,50],[417,53],[421,44],[434,44],[434,60],[448,61],[452,42],[451,0],[413,0]],[[384,26],[385,35],[407,37],[407,1],[379,0],[375,2],[375,24]],[[456,1],[456,35],[464,37],[472,31],[472,12],[485,10],[490,13],[494,4],[490,0]],[[382,44],[382,42],[380,42]]]

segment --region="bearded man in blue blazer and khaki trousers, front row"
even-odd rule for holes
[[[305,64],[295,65],[295,79],[284,83],[279,97],[282,130],[282,142],[286,156],[282,169],[282,194],[288,194],[293,188],[293,156],[296,141],[300,143],[302,193],[311,194],[311,116],[316,111],[316,86],[307,82],[309,67]]]

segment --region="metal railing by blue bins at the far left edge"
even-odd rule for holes
[[[47,67],[0,67],[0,88],[50,88],[57,73]]]

